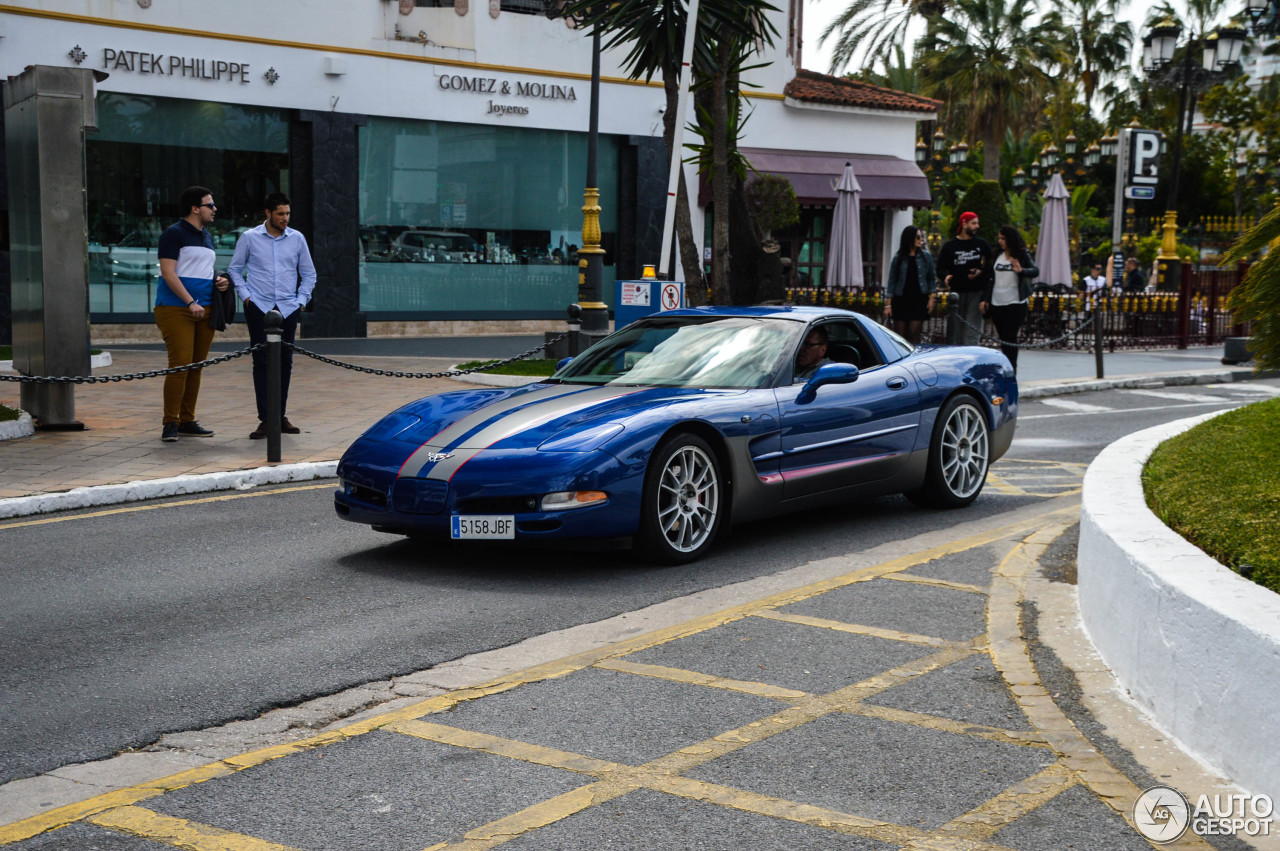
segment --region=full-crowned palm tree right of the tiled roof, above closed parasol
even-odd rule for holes
[[[1000,179],[1000,142],[1043,100],[1053,72],[1070,64],[1052,20],[1032,24],[1036,8],[1019,0],[956,0],[920,54],[925,95],[966,114],[983,141],[983,179]]]

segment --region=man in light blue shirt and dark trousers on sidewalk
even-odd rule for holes
[[[252,343],[266,342],[266,314],[273,308],[284,316],[280,338],[292,343],[298,331],[302,307],[316,287],[316,267],[311,262],[307,239],[289,228],[289,198],[283,192],[266,196],[266,220],[241,234],[228,273],[236,294],[244,302],[244,324]],[[280,352],[280,431],[300,434],[302,429],[284,416],[289,399],[293,349]],[[257,397],[257,429],[253,440],[266,436],[266,349],[253,352],[253,394]]]

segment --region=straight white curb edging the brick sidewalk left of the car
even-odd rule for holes
[[[37,494],[35,497],[0,499],[0,520],[6,517],[47,514],[55,511],[69,511],[74,508],[116,505],[119,503],[138,502],[142,499],[180,497],[183,494],[204,494],[211,490],[248,490],[250,488],[256,488],[259,485],[278,485],[287,481],[330,479],[335,476],[337,472],[337,461],[319,461],[280,465],[279,467],[256,467],[253,470],[210,472],[200,476],[173,476],[170,479],[129,481],[122,485],[74,488],[56,494]]]

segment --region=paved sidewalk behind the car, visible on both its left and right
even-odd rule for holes
[[[461,360],[511,357],[539,343],[541,339],[536,337],[489,337],[300,344],[362,366],[435,372]],[[215,351],[242,346],[223,343]],[[159,344],[106,348],[114,362],[95,370],[95,375],[131,374],[166,365],[164,347]],[[456,354],[449,357],[449,352]],[[1036,398],[1153,381],[1231,381],[1249,375],[1245,367],[1222,366],[1220,358],[1220,347],[1116,352],[1106,356],[1107,379],[1096,381],[1091,353],[1028,349],[1020,361],[1021,395]],[[83,431],[37,431],[29,438],[0,441],[0,518],[332,476],[343,450],[380,416],[422,395],[466,386],[453,379],[367,375],[296,356],[287,413],[302,434],[283,435],[282,462],[268,465],[266,441],[248,439],[257,416],[247,356],[204,371],[197,417],[215,431],[211,438],[161,443],[163,381],[152,378],[79,385],[76,416],[84,424]],[[0,384],[0,402],[17,407],[18,397],[17,383]],[[237,475],[210,476],[229,472]],[[201,476],[205,479],[195,479]]]

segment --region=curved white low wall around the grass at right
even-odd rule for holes
[[[1153,720],[1245,790],[1280,799],[1280,595],[1219,564],[1147,508],[1142,468],[1219,413],[1132,434],[1084,476],[1085,632]]]

